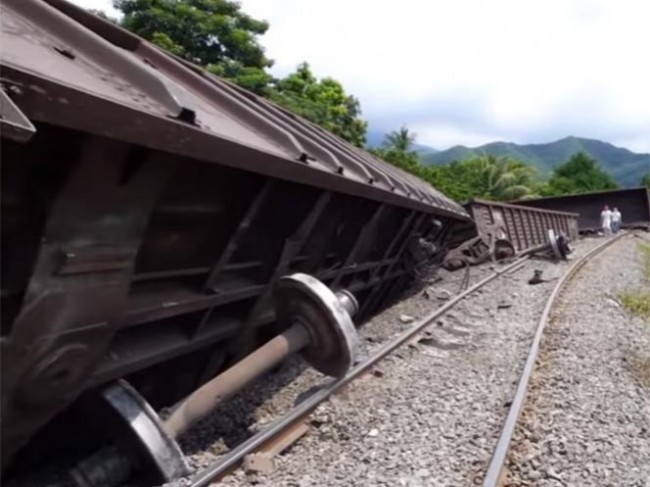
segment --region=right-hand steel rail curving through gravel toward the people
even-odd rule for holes
[[[598,245],[596,248],[589,251],[587,254],[583,255],[579,260],[577,260],[569,270],[560,278],[557,282],[551,295],[546,301],[542,315],[537,323],[537,329],[535,331],[535,336],[533,338],[532,345],[530,347],[530,352],[526,358],[526,364],[524,369],[521,372],[519,377],[519,383],[517,384],[517,390],[515,396],[508,410],[508,416],[506,417],[505,422],[503,423],[503,428],[501,434],[499,435],[499,441],[494,449],[492,458],[488,465],[487,472],[483,479],[483,487],[497,487],[500,485],[501,474],[505,467],[506,458],[508,456],[508,450],[510,448],[510,443],[512,437],[515,433],[515,428],[517,427],[517,421],[519,420],[519,415],[524,406],[526,400],[526,394],[528,392],[528,385],[530,383],[530,378],[532,377],[533,370],[535,369],[535,362],[537,361],[537,355],[539,353],[540,343],[542,341],[542,336],[544,335],[544,329],[548,323],[548,319],[551,315],[551,310],[555,305],[555,301],[563,290],[564,286],[569,282],[569,280],[587,263],[589,260],[598,255],[600,252],[605,250],[607,247],[612,245],[614,242],[617,242],[620,238],[624,237],[627,234],[620,234],[616,237],[613,237],[602,244]]]

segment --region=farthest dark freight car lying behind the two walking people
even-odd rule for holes
[[[616,207],[623,216],[623,228],[650,227],[650,195],[647,188],[617,189],[564,196],[514,201],[517,206],[579,213],[581,233],[600,230],[600,212],[605,205]]]

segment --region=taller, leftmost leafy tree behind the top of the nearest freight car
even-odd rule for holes
[[[268,23],[231,0],[114,0],[122,26],[208,71],[264,94],[273,63],[257,37]]]

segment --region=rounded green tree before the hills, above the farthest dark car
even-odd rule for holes
[[[567,162],[553,169],[553,175],[543,189],[543,194],[553,196],[616,188],[616,181],[601,169],[595,159],[584,152],[578,152]]]

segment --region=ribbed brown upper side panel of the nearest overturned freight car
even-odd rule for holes
[[[417,178],[83,9],[6,0],[1,15],[2,80],[32,120],[466,216]]]

